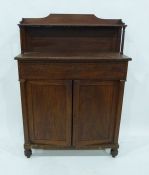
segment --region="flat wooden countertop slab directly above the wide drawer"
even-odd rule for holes
[[[76,62],[98,62],[98,61],[129,61],[127,57],[120,53],[24,53],[15,57],[16,60],[47,60],[47,61],[76,61]]]

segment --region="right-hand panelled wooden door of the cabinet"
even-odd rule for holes
[[[113,142],[117,91],[116,81],[74,81],[74,146],[99,147]]]

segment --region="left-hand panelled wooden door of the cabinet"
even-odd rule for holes
[[[27,99],[31,143],[70,146],[72,82],[28,81]]]

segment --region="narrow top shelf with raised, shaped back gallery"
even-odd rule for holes
[[[19,26],[126,26],[121,19],[101,19],[90,14],[50,14],[45,18],[23,18]]]

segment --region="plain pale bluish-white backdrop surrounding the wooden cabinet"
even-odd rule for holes
[[[124,53],[129,62],[123,103],[120,153],[33,151],[23,155],[23,126],[17,63],[22,17],[49,13],[92,13],[128,25]],[[148,0],[0,0],[0,174],[149,174],[149,2]],[[40,155],[40,156],[39,156]]]

